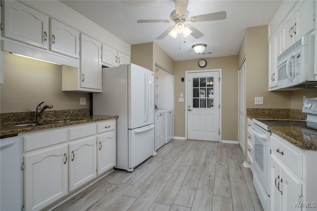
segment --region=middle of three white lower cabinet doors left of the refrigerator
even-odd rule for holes
[[[97,176],[96,137],[69,144],[69,191]]]

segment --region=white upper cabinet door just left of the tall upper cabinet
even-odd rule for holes
[[[50,18],[50,51],[79,58],[79,31]]]

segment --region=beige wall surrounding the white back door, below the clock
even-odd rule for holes
[[[207,66],[200,68],[200,59],[175,61],[174,69],[174,136],[185,137],[185,102],[178,102],[180,93],[185,96],[185,78],[187,70],[222,69],[222,140],[238,140],[238,56],[206,58]]]

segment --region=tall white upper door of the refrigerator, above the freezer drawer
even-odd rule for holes
[[[153,72],[129,65],[129,129],[154,123],[154,76]]]

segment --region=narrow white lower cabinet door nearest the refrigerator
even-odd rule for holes
[[[116,165],[115,130],[98,136],[98,175]]]

